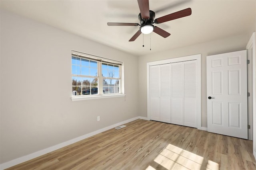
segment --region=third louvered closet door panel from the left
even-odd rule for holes
[[[171,64],[171,123],[183,125],[183,62]]]

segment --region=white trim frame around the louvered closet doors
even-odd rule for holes
[[[150,120],[150,66],[176,63],[182,61],[196,60],[196,122],[197,129],[202,129],[201,126],[201,54],[190,55],[185,57],[177,57],[161,61],[153,61],[147,63],[147,117]]]

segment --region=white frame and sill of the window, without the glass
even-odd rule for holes
[[[98,57],[95,55],[90,55],[86,53],[81,53],[79,51],[73,51],[72,50],[72,57],[80,57],[83,59],[88,59],[90,61],[96,61],[97,67],[98,67],[98,94],[90,94],[90,95],[79,95],[79,96],[73,96],[72,90],[71,90],[71,100],[72,101],[80,101],[80,100],[92,100],[92,99],[99,99],[99,98],[116,98],[116,97],[124,97],[124,63],[121,61],[115,61],[112,59],[106,59],[104,57]],[[111,78],[111,77],[104,77],[102,76],[102,63],[105,64],[115,64],[119,65],[119,77],[120,78]],[[83,77],[82,75],[76,75],[72,74],[72,77]],[[86,76],[90,77],[90,76]],[[119,93],[112,93],[112,94],[103,94],[103,79],[115,79],[119,80]],[[72,87],[72,85],[71,85]]]

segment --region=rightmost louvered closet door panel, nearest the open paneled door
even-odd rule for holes
[[[196,127],[196,61],[183,63],[184,125]]]

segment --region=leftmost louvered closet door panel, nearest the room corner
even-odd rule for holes
[[[150,66],[150,119],[160,121],[160,66]]]

